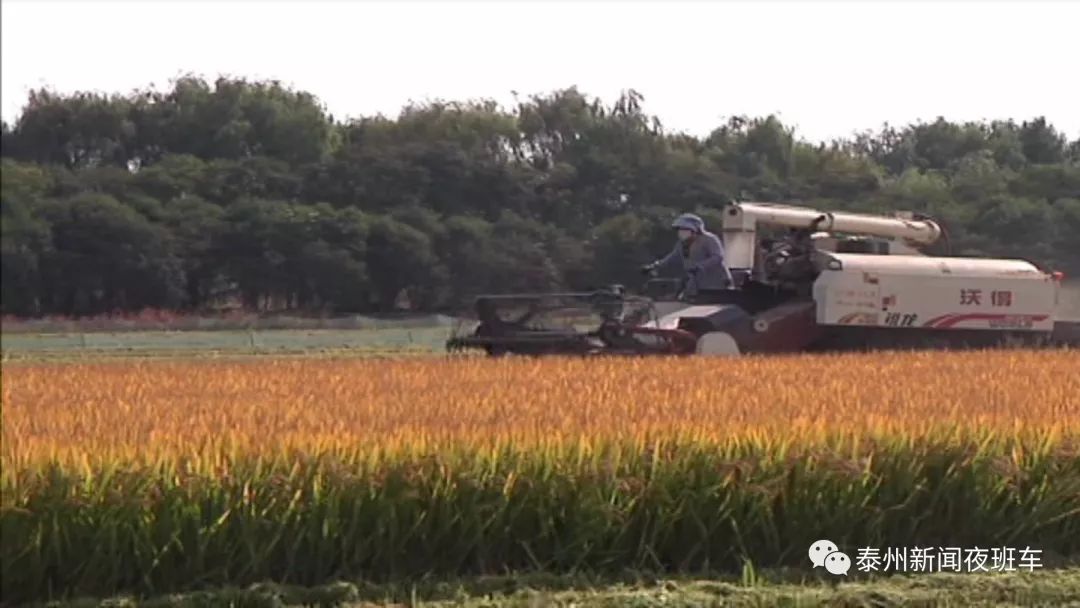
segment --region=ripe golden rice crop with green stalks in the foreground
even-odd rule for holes
[[[821,538],[1065,563],[1078,369],[1072,351],[5,365],[4,595],[813,577]]]

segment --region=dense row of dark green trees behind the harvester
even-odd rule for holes
[[[670,133],[625,92],[336,120],[273,81],[30,93],[2,125],[2,311],[450,310],[636,285],[677,213],[732,200],[927,213],[953,255],[1080,272],[1080,139],[1042,118],[812,144],[777,117]]]

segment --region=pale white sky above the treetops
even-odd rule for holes
[[[30,87],[278,79],[336,118],[409,99],[636,89],[666,127],[779,113],[820,140],[944,116],[1080,137],[1080,2],[2,0],[2,114]]]

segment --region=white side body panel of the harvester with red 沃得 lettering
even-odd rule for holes
[[[1051,332],[1058,284],[1023,260],[820,253],[821,325]]]

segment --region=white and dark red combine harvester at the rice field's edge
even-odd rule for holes
[[[761,234],[778,229],[779,238]],[[685,281],[653,279],[644,295],[616,285],[480,296],[478,324],[446,346],[491,355],[1080,346],[1080,323],[1056,319],[1061,273],[926,255],[943,237],[912,214],[732,203],[721,235],[730,289],[696,298]]]

